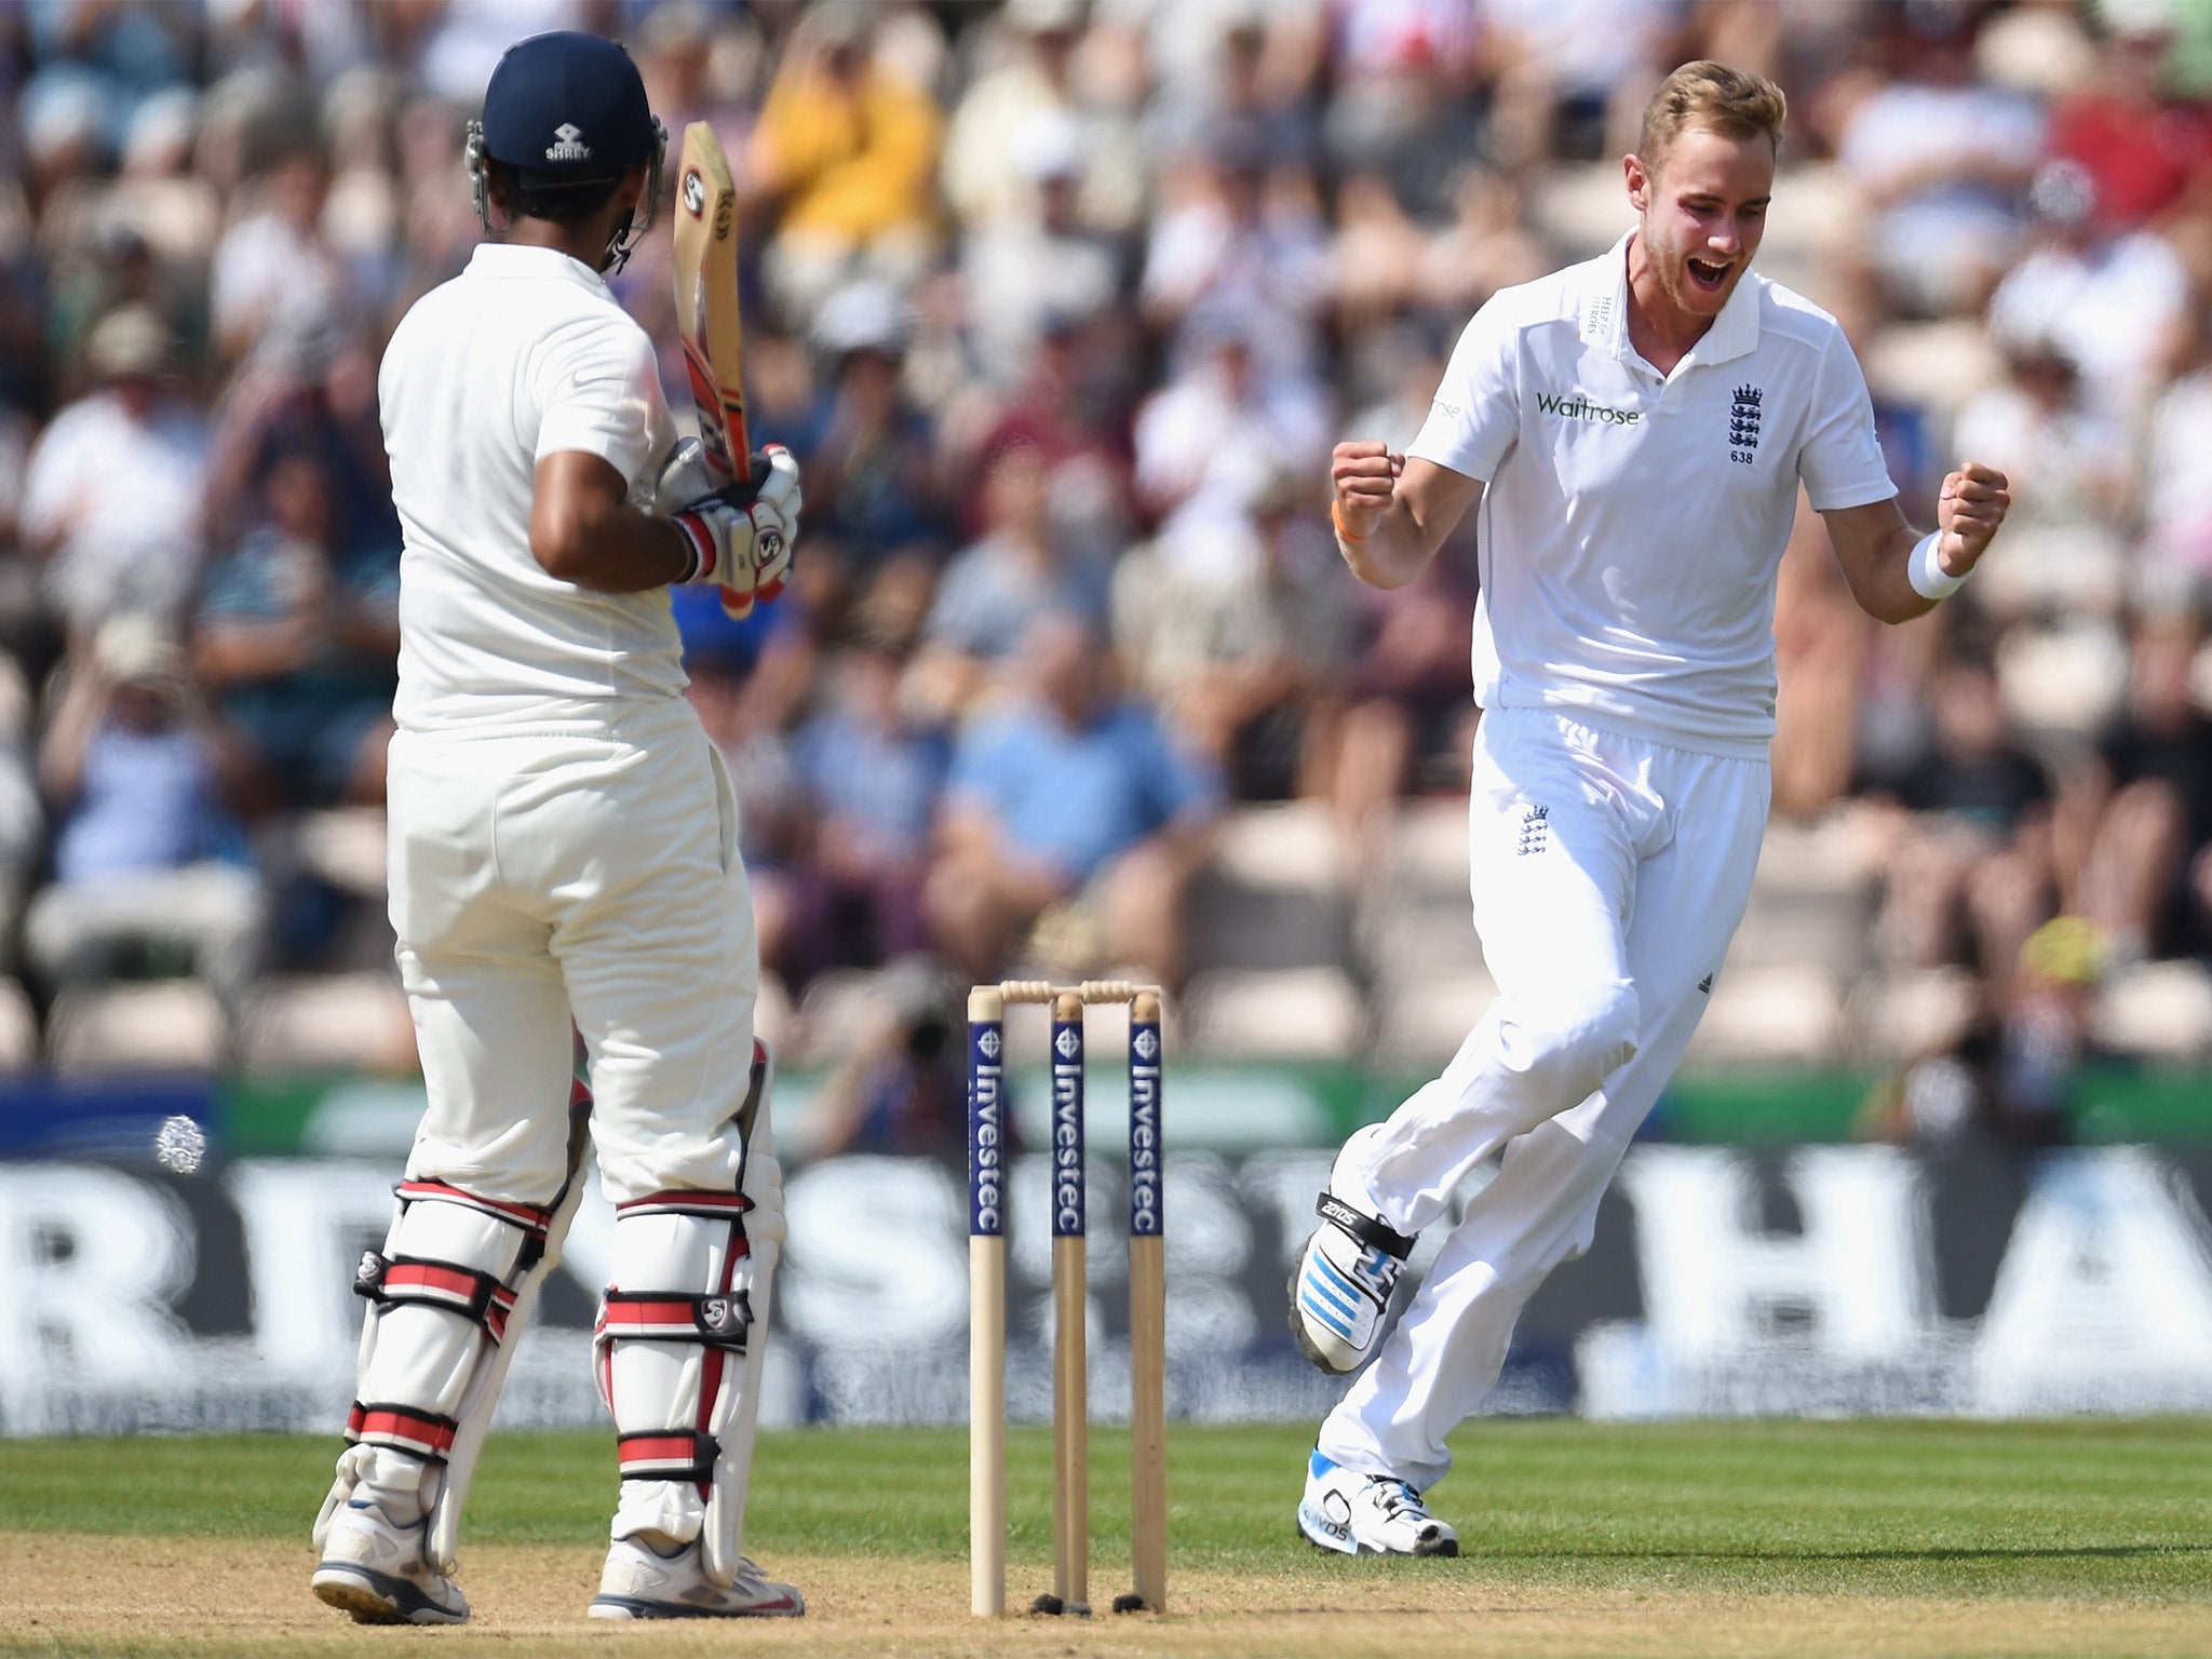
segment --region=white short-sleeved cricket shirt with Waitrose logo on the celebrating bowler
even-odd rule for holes
[[[1834,316],[1745,272],[1659,374],[1628,343],[1628,237],[1493,294],[1407,453],[1489,484],[1478,703],[1754,759],[1798,480],[1818,511],[1898,493]]]

